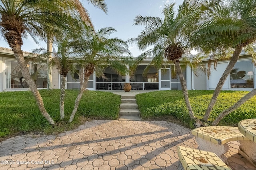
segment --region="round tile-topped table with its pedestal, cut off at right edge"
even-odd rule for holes
[[[245,119],[238,123],[239,131],[250,141],[240,141],[239,153],[256,166],[256,119]]]

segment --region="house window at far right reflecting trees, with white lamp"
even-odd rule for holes
[[[238,61],[230,72],[230,88],[253,88],[253,70],[251,61]]]

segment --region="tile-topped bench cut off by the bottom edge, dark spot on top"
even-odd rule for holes
[[[179,146],[178,156],[184,170],[231,170],[215,153]],[[179,169],[183,169],[180,168]]]

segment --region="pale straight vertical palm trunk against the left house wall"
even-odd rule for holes
[[[52,90],[52,37],[47,38],[47,89]]]

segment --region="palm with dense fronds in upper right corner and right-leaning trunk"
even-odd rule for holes
[[[209,7],[209,4],[211,6]],[[204,22],[201,22],[197,31],[194,31],[189,40],[195,47],[206,52],[226,51],[232,47],[234,53],[226,70],[222,74],[203,117],[207,121],[217,97],[222,89],[228,74],[232,72],[239,55],[244,49],[245,52],[253,51],[252,44],[256,40],[256,2],[252,0],[212,0],[206,4]],[[253,61],[255,56],[253,54]]]

